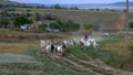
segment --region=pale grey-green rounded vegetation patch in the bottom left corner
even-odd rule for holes
[[[23,54],[0,53],[0,75],[41,75],[43,64]]]

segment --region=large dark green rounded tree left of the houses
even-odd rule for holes
[[[18,28],[18,29],[20,29],[20,26],[23,24],[31,24],[31,23],[32,23],[32,20],[29,20],[24,15],[19,15],[13,20],[14,28]]]

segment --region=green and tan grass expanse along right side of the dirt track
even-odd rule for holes
[[[110,40],[104,40],[99,42],[100,47],[85,47],[84,50],[80,50],[76,46],[70,46],[66,49],[66,54],[73,54],[80,60],[88,60],[88,56],[93,58],[100,58],[109,65],[119,68],[125,69],[133,69],[132,62],[133,62],[133,54],[131,51],[126,51],[126,47],[123,44],[124,40],[120,38],[112,38]]]

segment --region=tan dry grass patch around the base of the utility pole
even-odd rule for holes
[[[132,36],[132,35],[131,35]],[[116,56],[120,56],[120,63],[122,68],[133,71],[133,38],[130,39],[129,50],[125,39],[115,40],[113,42],[106,42],[102,46],[104,51],[111,52]],[[114,57],[116,57],[114,56]],[[119,58],[117,58],[119,60]],[[114,65],[116,66],[116,64]]]

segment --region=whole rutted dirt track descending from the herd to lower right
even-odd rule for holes
[[[92,58],[89,55],[86,61],[79,60],[74,55],[70,54],[69,57],[58,56],[57,54],[47,54],[53,63],[57,62],[60,65],[65,65],[72,69],[88,72],[91,75],[133,75],[133,72],[114,68],[112,66],[106,65],[99,58]],[[58,66],[60,66],[58,65]]]

